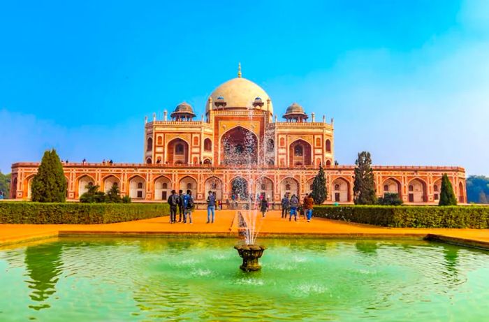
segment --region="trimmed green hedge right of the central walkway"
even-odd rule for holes
[[[481,206],[321,205],[314,216],[386,227],[489,228],[489,207]]]

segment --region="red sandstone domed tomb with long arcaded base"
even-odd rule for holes
[[[206,191],[218,200],[240,189],[265,193],[279,203],[286,193],[303,196],[312,189],[319,164],[325,166],[326,203],[353,202],[354,166],[335,165],[333,119],[316,119],[291,104],[277,120],[270,96],[241,77],[212,92],[205,117],[194,120],[191,105],[181,103],[163,120],[145,121],[143,163],[66,163],[68,200],[78,200],[88,184],[108,191],[117,184],[133,202],[166,200],[172,189],[191,189],[196,202]],[[14,163],[11,198],[29,199],[39,163]],[[460,203],[466,203],[465,170],[448,166],[373,166],[377,196],[399,193],[407,204],[438,203],[441,176],[450,178]],[[247,175],[243,175],[246,172]],[[251,179],[250,179],[251,178]]]

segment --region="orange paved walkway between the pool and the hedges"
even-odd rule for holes
[[[262,237],[275,235],[306,235],[321,237],[427,237],[467,244],[489,249],[489,229],[424,229],[385,228],[344,221],[313,218],[307,222],[282,219],[279,211],[270,211],[265,218],[257,218]],[[25,240],[78,234],[198,234],[235,236],[238,233],[235,210],[218,210],[214,224],[206,224],[204,210],[194,213],[194,224],[170,224],[169,217],[158,217],[138,221],[103,225],[31,225],[0,224],[0,244],[11,244]]]

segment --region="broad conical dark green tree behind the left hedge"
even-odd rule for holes
[[[64,203],[66,188],[66,177],[58,154],[54,149],[44,152],[38,172],[32,179],[32,201]]]

